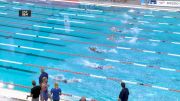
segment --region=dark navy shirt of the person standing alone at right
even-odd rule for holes
[[[121,101],[128,101],[129,90],[127,88],[123,88],[119,94],[119,98]]]

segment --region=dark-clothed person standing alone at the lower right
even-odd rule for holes
[[[119,94],[119,101],[128,101],[129,96],[129,90],[126,88],[126,85],[124,82],[121,82],[122,90]]]

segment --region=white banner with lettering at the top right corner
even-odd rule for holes
[[[158,0],[158,6],[180,7],[180,0]]]

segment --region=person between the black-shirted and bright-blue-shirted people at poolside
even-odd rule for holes
[[[41,83],[41,101],[47,101],[48,100],[48,85],[47,85],[47,78],[43,77],[42,83]]]

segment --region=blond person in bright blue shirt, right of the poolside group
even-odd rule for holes
[[[51,95],[52,95],[53,101],[60,100],[59,95],[61,95],[61,89],[59,88],[58,83],[55,83],[54,88],[51,89]]]

